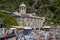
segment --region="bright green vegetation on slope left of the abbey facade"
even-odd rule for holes
[[[8,13],[0,11],[0,17],[2,17],[3,20],[4,20],[4,23],[3,23],[2,27],[8,28],[8,27],[11,27],[12,25],[14,25],[14,26],[18,25],[14,15],[11,16]]]

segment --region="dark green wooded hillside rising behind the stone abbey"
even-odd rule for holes
[[[46,23],[60,24],[60,0],[0,0],[0,9],[18,11],[22,2],[27,5],[27,12],[36,12],[37,15],[44,16]]]

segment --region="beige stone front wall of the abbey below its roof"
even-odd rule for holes
[[[17,22],[19,26],[29,26],[32,28],[41,28],[43,26],[43,20],[37,18],[29,18],[29,17],[20,17],[17,18]]]

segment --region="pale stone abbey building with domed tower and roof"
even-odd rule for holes
[[[19,6],[19,12],[14,12],[19,26],[41,28],[45,22],[45,17],[39,17],[35,13],[26,13],[26,7],[27,6],[22,3]]]

